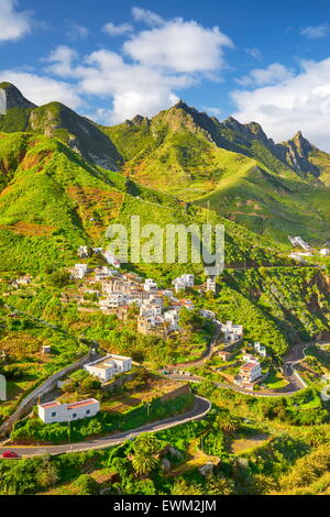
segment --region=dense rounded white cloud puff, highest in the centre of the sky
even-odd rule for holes
[[[196,73],[222,68],[226,46],[232,47],[233,43],[218,26],[206,29],[195,21],[175,19],[133,35],[123,51],[143,65]]]

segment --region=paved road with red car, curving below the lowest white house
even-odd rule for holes
[[[66,452],[78,452],[88,451],[91,449],[107,449],[109,447],[118,446],[123,443],[130,438],[135,438],[142,432],[155,432],[163,429],[185,424],[186,421],[198,420],[202,418],[211,409],[211,403],[204,397],[195,396],[194,406],[189,411],[183,415],[176,415],[175,417],[165,418],[164,420],[157,420],[155,422],[146,424],[145,426],[139,427],[138,429],[131,429],[130,431],[120,432],[117,435],[110,435],[102,438],[97,438],[90,441],[84,441],[79,443],[65,443],[63,446],[8,446],[0,447],[0,454],[6,451],[15,452],[21,457],[41,455],[41,454],[62,454]]]

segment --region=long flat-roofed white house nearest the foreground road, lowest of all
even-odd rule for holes
[[[61,404],[58,400],[38,404],[37,415],[44,424],[66,422],[95,417],[100,410],[96,398],[88,398],[72,404]]]

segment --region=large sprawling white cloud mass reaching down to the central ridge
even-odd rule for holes
[[[145,53],[145,45],[152,46],[152,55]],[[219,80],[226,66],[224,46],[232,42],[218,28],[176,19],[127,41],[129,59],[106,48],[81,59],[62,45],[46,58],[46,72],[74,80],[79,95],[109,99],[109,108],[98,110],[96,117],[110,124],[138,113],[153,116],[178,100],[177,90],[206,78]]]

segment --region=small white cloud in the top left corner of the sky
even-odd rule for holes
[[[30,11],[16,11],[16,0],[0,2],[0,42],[19,40],[32,28]]]

